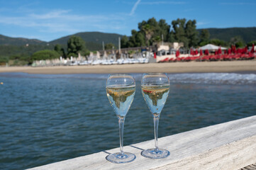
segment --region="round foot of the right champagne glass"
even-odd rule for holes
[[[146,149],[141,152],[143,157],[151,158],[151,159],[162,159],[169,156],[169,151],[166,149]]]

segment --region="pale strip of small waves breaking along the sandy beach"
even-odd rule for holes
[[[181,84],[256,84],[256,74],[238,73],[182,73],[168,74],[171,83]],[[27,74],[0,73],[0,77],[35,78],[35,79],[104,79],[108,74]],[[143,74],[133,74],[140,81]]]

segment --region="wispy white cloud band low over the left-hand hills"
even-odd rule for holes
[[[35,28],[44,33],[77,33],[87,30],[120,30],[125,18],[121,15],[77,15],[71,10],[55,9],[45,13],[23,13],[21,16],[3,16],[0,23],[4,25]]]

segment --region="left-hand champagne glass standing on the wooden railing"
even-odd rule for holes
[[[106,94],[118,118],[120,137],[120,152],[109,154],[106,159],[116,164],[132,162],[136,158],[135,155],[123,152],[123,125],[135,95],[135,80],[133,76],[129,74],[108,75]]]

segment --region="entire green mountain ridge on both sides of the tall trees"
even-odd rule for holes
[[[250,28],[205,28],[210,33],[210,39],[218,38],[220,40],[230,41],[231,38],[235,36],[240,36],[245,40],[245,42],[250,42],[256,40],[256,27]],[[199,33],[202,29],[197,29]],[[82,32],[75,33],[81,37],[87,45],[88,50],[101,50],[102,42],[105,44],[113,43],[113,45],[118,46],[118,38],[122,38],[123,35],[116,33],[101,33],[101,32]],[[60,44],[63,47],[67,47],[67,40],[72,35],[67,35],[50,42],[45,42],[37,39],[28,39],[28,38],[10,38],[5,35],[0,34],[0,45],[42,45],[42,48],[47,45],[56,45]]]

